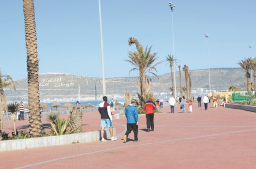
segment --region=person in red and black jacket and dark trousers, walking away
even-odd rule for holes
[[[146,118],[147,118],[147,132],[154,131],[154,113],[155,113],[156,105],[153,102],[152,98],[149,98],[144,105],[144,109],[146,110]],[[149,130],[151,126],[151,130]]]

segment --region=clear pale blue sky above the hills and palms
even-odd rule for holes
[[[105,77],[128,77],[129,37],[165,60],[173,54],[169,0],[101,0]],[[256,57],[255,0],[173,0],[174,55],[189,69],[235,68]],[[98,0],[34,0],[39,73],[102,77]],[[0,66],[27,77],[22,0],[0,0]],[[204,33],[209,34],[207,39]],[[252,45],[252,48],[248,47]],[[209,50],[208,50],[209,49]],[[208,52],[209,51],[209,52]],[[177,67],[176,67],[177,70]],[[157,74],[170,72],[165,63]],[[137,76],[137,73],[130,74]]]

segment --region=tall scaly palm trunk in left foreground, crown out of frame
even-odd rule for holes
[[[27,81],[29,101],[29,134],[31,137],[42,136],[42,122],[39,99],[38,82],[38,52],[36,41],[36,22],[34,1],[23,0],[23,12],[25,17],[25,39],[27,48]]]

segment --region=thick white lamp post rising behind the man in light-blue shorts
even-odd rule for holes
[[[99,24],[100,24],[100,27],[101,27],[102,89],[103,89],[103,96],[106,96],[106,83],[105,83],[105,71],[104,71],[104,55],[103,55],[103,38],[102,38],[102,24],[101,24],[101,0],[99,0]]]

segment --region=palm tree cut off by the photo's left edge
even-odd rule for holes
[[[2,74],[0,67],[0,140],[2,140],[2,130],[3,130],[3,110],[7,109],[7,100],[3,91],[3,88],[12,85],[15,90],[15,85],[18,83],[14,82],[10,76],[7,74]]]

